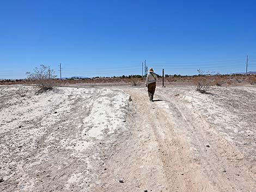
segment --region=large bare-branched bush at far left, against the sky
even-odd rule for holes
[[[35,67],[33,72],[27,72],[27,78],[33,80],[37,86],[38,93],[42,93],[48,90],[52,90],[54,86],[57,85],[57,82],[54,78],[53,70],[49,70],[47,66],[40,65],[40,67]]]

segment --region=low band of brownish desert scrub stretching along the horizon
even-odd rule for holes
[[[254,84],[256,75],[211,75],[211,76],[179,76],[179,75],[166,75],[164,83],[166,85],[194,85],[199,77],[204,77],[211,82],[211,85],[217,86],[230,86],[230,85],[247,85]],[[46,78],[47,79],[47,78]],[[17,79],[17,80],[0,80],[0,85],[12,84],[36,84],[35,79]],[[161,76],[159,76],[158,84],[162,83]],[[117,85],[143,85],[145,80],[142,77],[96,77],[85,79],[54,79],[54,85],[72,85],[72,84],[100,84],[108,86]]]

